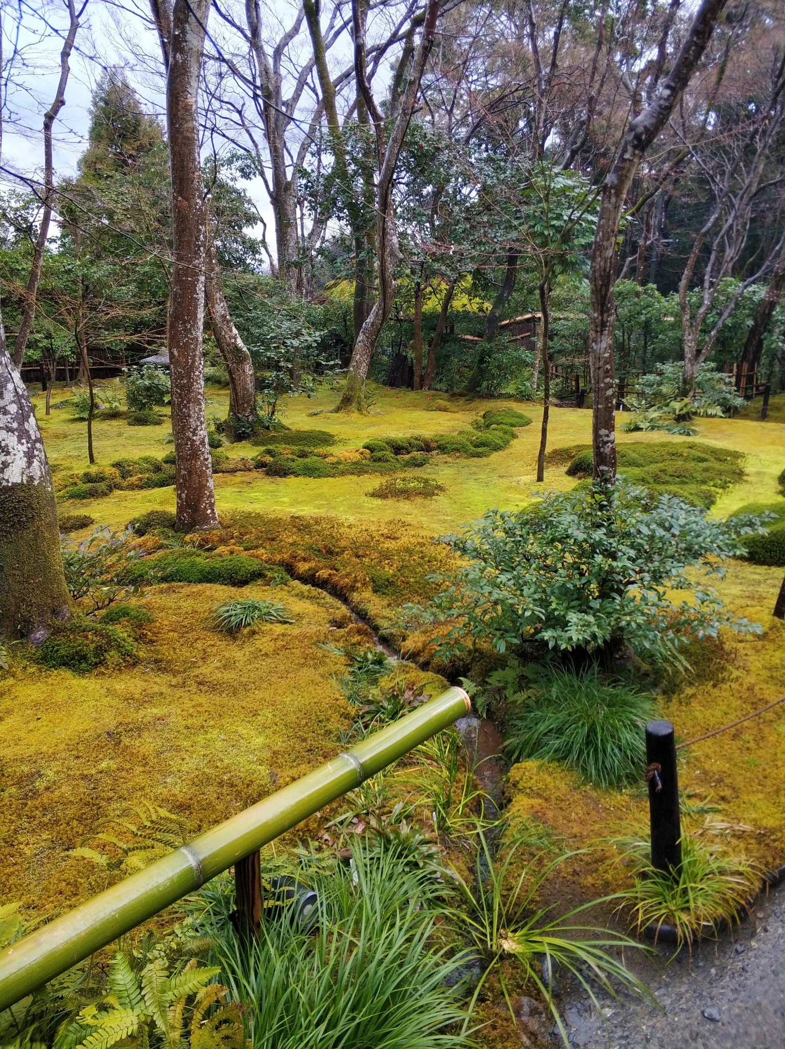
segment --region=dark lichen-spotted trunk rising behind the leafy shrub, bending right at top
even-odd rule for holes
[[[589,362],[592,372],[592,450],[594,477],[616,479],[616,418],[613,329],[614,283],[619,220],[630,185],[645,151],[662,130],[689,83],[726,0],[702,0],[671,72],[654,89],[645,108],[630,123],[616,158],[602,183],[599,217],[589,275],[591,321]]]

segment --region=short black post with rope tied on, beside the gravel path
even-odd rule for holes
[[[676,741],[671,722],[646,725],[646,778],[652,825],[652,865],[658,871],[681,866],[679,783],[676,776]]]

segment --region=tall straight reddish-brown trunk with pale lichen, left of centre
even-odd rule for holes
[[[197,94],[210,0],[174,0],[161,18],[153,0],[168,66],[166,110],[172,177],[173,266],[167,344],[171,374],[172,433],[176,456],[177,528],[218,523],[205,420],[201,339],[205,320],[207,226],[199,166]]]

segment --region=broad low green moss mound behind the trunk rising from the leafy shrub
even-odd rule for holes
[[[633,484],[705,508],[714,506],[720,491],[744,477],[741,452],[694,441],[620,445],[617,455],[619,472]],[[578,452],[566,473],[591,477],[591,448]]]

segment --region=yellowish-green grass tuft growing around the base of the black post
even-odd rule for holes
[[[619,894],[623,900],[619,909],[632,909],[639,933],[649,925],[657,933],[662,925],[672,925],[679,947],[692,946],[695,940],[716,934],[722,922],[748,913],[761,885],[763,873],[756,863],[703,836],[682,835],[676,877],[652,865],[645,837],[619,838],[614,843],[635,874],[635,884]]]

